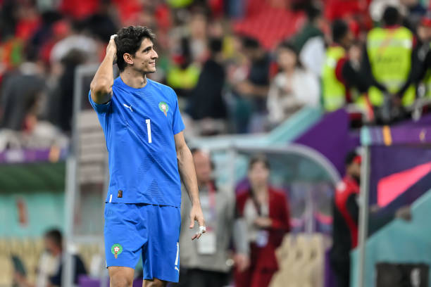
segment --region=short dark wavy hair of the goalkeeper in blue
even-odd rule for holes
[[[151,29],[143,26],[129,26],[118,30],[115,46],[117,46],[117,65],[120,72],[127,66],[123,58],[124,53],[135,55],[145,38],[154,42],[156,35]]]

